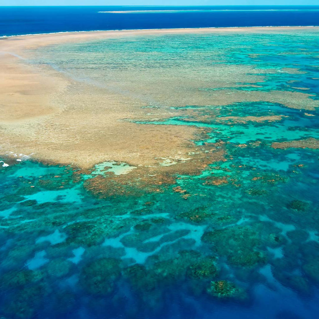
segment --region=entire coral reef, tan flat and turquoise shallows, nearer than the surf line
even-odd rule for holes
[[[0,316],[313,318],[318,30],[1,39]]]

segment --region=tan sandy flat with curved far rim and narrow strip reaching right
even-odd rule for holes
[[[128,120],[150,119],[147,101],[123,96],[114,91],[78,83],[46,66],[31,66],[12,56],[26,55],[26,49],[63,41],[88,41],[132,35],[205,32],[285,32],[296,28],[176,29],[61,33],[19,36],[1,41],[0,59],[0,143],[2,154],[33,154],[42,161],[73,164],[91,168],[94,164],[115,160],[145,172],[198,173],[208,163],[223,158],[215,146],[199,147],[191,140],[203,138],[204,130],[190,126],[143,125]],[[301,28],[308,30],[307,28]],[[243,73],[244,74],[244,73]],[[172,90],[176,88],[173,87]],[[188,88],[187,88],[188,89]],[[155,98],[165,107],[152,108],[152,118],[165,119],[180,114],[186,105],[225,105],[237,101],[280,102],[287,107],[314,109],[308,94],[294,92],[259,92],[236,90],[169,95],[158,90]],[[167,98],[168,97],[168,98]],[[180,106],[172,110],[169,106]],[[181,113],[182,112],[182,113]],[[279,119],[279,118],[278,118]],[[209,155],[207,155],[209,154]],[[164,159],[181,158],[169,167]],[[137,173],[135,173],[137,174]]]

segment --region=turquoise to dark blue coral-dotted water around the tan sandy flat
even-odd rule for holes
[[[84,173],[3,158],[1,315],[316,317],[319,150],[271,144],[319,138],[319,113],[305,109],[318,105],[318,40],[312,32],[188,34],[38,50],[32,63],[143,96],[150,112],[176,112],[130,120],[136,125],[207,128],[195,143],[219,143],[226,155],[158,192],[122,196],[96,194],[90,180],[129,178],[136,167],[128,163],[106,160]],[[310,95],[287,95],[298,92]],[[207,103],[207,94],[221,98]],[[273,115],[285,117],[220,120]]]

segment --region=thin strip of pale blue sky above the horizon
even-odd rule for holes
[[[0,5],[318,5],[318,0],[0,0]]]

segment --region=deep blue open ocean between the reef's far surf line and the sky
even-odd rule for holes
[[[98,13],[99,11],[189,9],[206,11]],[[319,6],[0,7],[1,36],[117,29],[314,25],[319,25]]]

